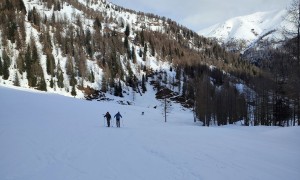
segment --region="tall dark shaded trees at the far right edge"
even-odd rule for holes
[[[297,37],[280,48],[268,49],[260,64],[266,78],[252,80],[255,87],[255,124],[295,126],[300,117],[300,62]],[[299,125],[299,122],[298,122]]]

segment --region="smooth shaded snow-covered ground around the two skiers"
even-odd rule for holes
[[[202,127],[177,105],[165,123],[150,95],[128,106],[0,86],[0,179],[300,179],[300,127]]]

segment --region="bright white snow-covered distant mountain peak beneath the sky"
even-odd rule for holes
[[[268,35],[267,38],[278,39],[282,37],[282,28],[290,26],[290,24],[284,20],[286,14],[286,10],[257,12],[229,19],[224,23],[219,23],[200,30],[198,33],[225,42],[231,39],[242,39],[246,40],[248,44],[251,44],[265,34],[275,31]]]

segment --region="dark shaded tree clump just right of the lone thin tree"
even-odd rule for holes
[[[185,97],[194,100],[196,117],[204,126],[249,121],[247,100],[237,82],[216,68],[185,67]]]

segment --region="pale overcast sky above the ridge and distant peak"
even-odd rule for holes
[[[199,31],[229,18],[285,9],[291,0],[108,0],[136,11],[171,18]]]

